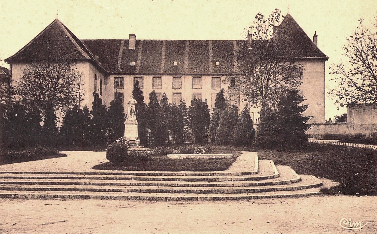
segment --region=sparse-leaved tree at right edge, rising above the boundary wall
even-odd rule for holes
[[[343,46],[345,58],[330,66],[337,86],[329,94],[338,106],[377,101],[377,23],[367,28],[362,19]]]

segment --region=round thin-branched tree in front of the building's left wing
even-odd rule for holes
[[[30,63],[20,80],[15,81],[15,94],[43,115],[50,109],[64,112],[78,103],[80,77],[76,64],[69,58]]]

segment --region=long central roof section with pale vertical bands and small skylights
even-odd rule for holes
[[[82,42],[110,73],[224,74],[234,70],[234,43],[240,41],[136,40],[135,49],[129,49],[129,40]]]

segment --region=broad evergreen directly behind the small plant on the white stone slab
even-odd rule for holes
[[[195,137],[195,142],[205,142],[210,125],[210,112],[207,99],[205,99],[204,102],[201,99],[192,100],[187,115],[190,128]]]

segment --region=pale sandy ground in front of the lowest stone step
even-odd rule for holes
[[[377,233],[377,197],[219,202],[0,200],[0,233]],[[342,218],[362,229],[340,227]]]

